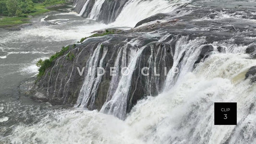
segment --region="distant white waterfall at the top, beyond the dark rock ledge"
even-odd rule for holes
[[[83,8],[79,7],[79,15],[89,12],[85,17],[93,20],[112,23],[116,26],[133,27],[139,21],[157,13],[168,13],[185,5],[190,0],[95,0],[92,8],[88,7],[88,3],[82,2]],[[76,3],[78,3],[76,1]]]

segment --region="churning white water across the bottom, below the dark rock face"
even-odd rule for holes
[[[169,92],[139,101],[124,121],[96,110],[47,111],[36,124],[15,127],[8,138],[42,144],[253,144],[253,137],[243,135],[255,132],[255,109],[250,107],[256,84],[237,77],[256,64],[247,58],[242,53],[212,54]],[[237,102],[238,125],[214,125],[214,102]]]

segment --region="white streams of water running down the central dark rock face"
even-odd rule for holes
[[[155,36],[155,35],[152,35]],[[165,37],[165,36],[164,36]],[[166,38],[166,37],[165,37]],[[177,40],[176,45],[175,45],[175,51],[174,51],[174,63],[173,67],[179,67],[181,72],[179,75],[175,75],[171,69],[169,74],[167,75],[167,80],[164,88],[164,91],[169,90],[170,87],[172,87],[176,83],[176,79],[178,79],[179,76],[183,77],[187,72],[192,71],[193,65],[195,61],[197,60],[202,47],[204,46],[203,43],[205,42],[205,37],[199,37],[194,40],[188,40],[188,36],[181,36],[178,39],[172,38],[169,42],[166,42],[167,44],[171,43],[173,39]],[[162,40],[165,40],[164,38],[161,38]],[[125,66],[126,63],[126,48],[128,45],[134,46],[137,45],[139,46],[140,41],[139,40],[132,40],[128,42],[126,45],[123,47],[119,48],[118,52],[118,57],[116,58],[115,61],[115,67],[117,68],[118,74],[115,77],[112,77],[112,80],[110,82],[110,87],[108,91],[108,96],[107,100],[104,103],[104,105],[101,108],[101,112],[107,113],[107,114],[112,114],[122,120],[126,118],[126,112],[127,112],[127,106],[128,106],[128,98],[130,96],[131,92],[131,84],[132,84],[132,78],[134,75],[134,71],[138,68],[138,61],[142,59],[142,52],[143,50],[147,47],[150,46],[151,51],[153,50],[152,48],[154,47],[153,44],[149,43],[146,46],[143,46],[141,48],[129,48],[131,49],[129,53],[129,58],[128,58],[128,64],[127,68],[129,69],[129,74],[124,75],[122,72],[123,67],[120,66]],[[201,46],[202,45],[202,46]],[[99,46],[98,46],[99,47]],[[159,48],[161,49],[161,48]],[[76,105],[80,105],[82,108],[89,108],[92,109],[91,105],[94,104],[94,99],[95,95],[97,94],[97,88],[98,84],[100,83],[101,76],[96,76],[97,73],[97,63],[99,62],[99,58],[97,57],[99,55],[99,49],[98,49],[98,54],[96,53],[97,49],[94,52],[94,55],[91,56],[91,58],[88,60],[88,65],[90,67],[93,67],[92,72],[95,73],[95,75],[91,76],[89,75],[90,73],[87,73],[83,86],[81,88],[78,100]],[[159,51],[159,50],[158,50]],[[155,70],[154,68],[156,67],[156,64],[154,64],[156,61],[153,60],[152,58],[157,58],[155,56],[154,52],[151,52],[150,57],[148,58],[148,65],[151,70]],[[165,56],[162,56],[161,59],[165,58]],[[122,60],[124,59],[124,60]],[[94,62],[92,63],[92,60]],[[155,62],[154,62],[155,61]],[[154,62],[154,63],[152,63]],[[87,66],[86,66],[87,67]],[[86,68],[88,69],[88,67]],[[89,70],[90,71],[90,70]],[[154,77],[158,76],[150,76],[147,77],[146,81],[146,89],[148,90],[149,94],[151,93],[151,83],[152,80],[154,80]],[[157,84],[157,83],[156,83]],[[89,87],[88,87],[89,86]],[[114,86],[116,86],[114,88]],[[158,87],[158,86],[156,86]],[[161,89],[158,89],[158,91],[162,91]],[[92,100],[93,99],[93,100]],[[91,102],[88,102],[88,101]]]

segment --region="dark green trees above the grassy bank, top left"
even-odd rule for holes
[[[35,4],[50,4],[61,0],[0,0],[0,15],[27,17],[28,13],[36,12]]]

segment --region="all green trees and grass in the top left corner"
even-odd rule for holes
[[[65,0],[0,0],[0,26],[29,23],[29,15],[49,12],[46,7]]]

